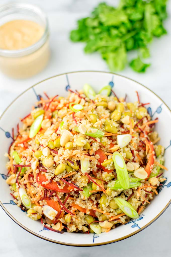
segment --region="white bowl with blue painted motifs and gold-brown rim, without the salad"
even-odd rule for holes
[[[114,86],[113,89],[118,97],[125,97],[125,94],[127,94],[127,101],[129,102],[137,100],[135,91],[138,91],[142,103],[150,102],[148,112],[153,119],[156,117],[159,118],[159,122],[156,124],[156,130],[161,137],[160,144],[166,149],[165,166],[170,167],[171,165],[171,135],[170,129],[168,129],[171,127],[170,109],[151,90],[136,81],[109,72],[71,72],[43,80],[18,96],[5,110],[0,119],[0,164],[2,173],[0,176],[0,204],[8,216],[28,232],[54,243],[73,246],[103,245],[132,236],[154,222],[171,203],[171,173],[165,171],[164,177],[167,178],[167,180],[160,186],[158,189],[159,194],[145,208],[143,214],[141,214],[138,219],[134,219],[126,225],[120,225],[108,233],[101,233],[100,235],[68,232],[62,235],[58,234],[44,228],[41,222],[33,221],[28,218],[26,214],[15,205],[10,195],[9,187],[5,182],[7,178],[5,175],[7,174],[5,168],[7,158],[4,157],[4,153],[8,151],[8,147],[12,142],[10,137],[12,127],[15,128],[16,132],[19,118],[26,116],[30,112],[31,107],[35,104],[37,99],[39,99],[39,95],[43,95],[44,91],[50,96],[57,94],[66,96],[68,88],[79,90],[83,88],[85,83],[92,85],[97,92],[103,86],[110,84]]]

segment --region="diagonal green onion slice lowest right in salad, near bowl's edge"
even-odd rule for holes
[[[115,202],[119,206],[119,208],[130,218],[132,219],[137,219],[139,217],[138,213],[136,210],[130,205],[126,200],[115,197]]]

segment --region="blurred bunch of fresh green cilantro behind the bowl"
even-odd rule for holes
[[[90,17],[77,21],[72,30],[73,42],[86,42],[85,53],[98,51],[111,71],[119,71],[127,64],[127,51],[137,49],[138,57],[129,65],[137,72],[145,72],[150,64],[147,45],[153,37],[166,34],[163,20],[167,17],[167,0],[121,0],[117,8],[100,3]]]

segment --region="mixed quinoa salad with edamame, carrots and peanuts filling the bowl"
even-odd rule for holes
[[[11,196],[28,218],[58,233],[100,234],[139,217],[166,168],[158,118],[135,94],[130,103],[109,85],[44,92],[5,154]]]

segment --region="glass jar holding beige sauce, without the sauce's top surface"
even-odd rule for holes
[[[0,7],[0,26],[13,20],[28,20],[44,28],[43,36],[34,44],[19,50],[0,49],[0,69],[13,78],[31,77],[48,63],[49,28],[45,13],[37,6],[11,3]]]

